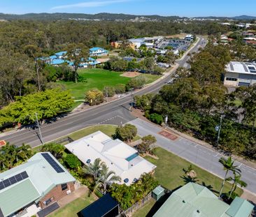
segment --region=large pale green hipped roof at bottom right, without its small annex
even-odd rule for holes
[[[229,205],[199,184],[189,183],[173,192],[155,217],[223,217]]]

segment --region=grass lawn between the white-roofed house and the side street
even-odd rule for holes
[[[159,181],[159,184],[162,186],[173,190],[178,188],[178,186],[183,186],[186,184],[185,179],[183,179],[184,172],[183,168],[187,168],[190,164],[187,160],[180,158],[171,152],[166,151],[162,148],[154,149],[155,154],[159,157],[158,160],[146,156],[145,158],[151,163],[157,165],[155,170],[155,177]],[[207,172],[206,170],[193,165],[195,172],[197,173],[197,184],[203,184],[208,186],[210,190],[213,190],[213,193],[218,194],[222,179],[216,177],[215,175]],[[231,184],[226,183],[223,193],[227,193],[231,188]],[[236,193],[241,195],[243,190],[241,188],[236,188]]]

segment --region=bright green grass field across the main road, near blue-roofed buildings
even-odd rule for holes
[[[104,86],[115,86],[116,84],[127,84],[129,77],[122,77],[118,72],[104,70],[100,68],[88,68],[78,70],[78,74],[85,82],[64,82],[59,81],[60,84],[64,84],[66,89],[71,91],[75,100],[85,98],[85,92],[97,88],[102,90]]]

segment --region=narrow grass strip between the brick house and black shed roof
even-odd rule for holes
[[[83,195],[82,197],[73,200],[73,202],[70,202],[65,207],[60,208],[55,213],[51,214],[49,217],[77,217],[78,211],[84,209],[92,202],[94,202],[94,198],[92,196],[87,197],[87,194]]]

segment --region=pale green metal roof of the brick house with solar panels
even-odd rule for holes
[[[50,152],[48,152],[50,154]],[[55,169],[48,163],[45,158],[41,155],[41,153],[37,153],[29,160],[27,160],[27,163],[23,163],[22,165],[18,165],[17,167],[13,167],[10,170],[7,170],[5,172],[2,172],[0,174],[0,179],[8,179],[10,177],[13,177],[16,174],[19,174],[20,172],[26,171],[29,176],[29,183],[31,186],[33,186],[34,189],[36,189],[36,192],[38,193],[37,197],[34,197],[34,200],[28,202],[27,197],[27,188],[30,188],[30,186],[25,186],[23,188],[21,183],[13,184],[12,186],[8,186],[8,188],[3,188],[0,190],[0,208],[3,211],[4,214],[7,213],[7,211],[4,211],[6,209],[6,205],[8,207],[8,204],[3,203],[5,201],[6,192],[13,193],[13,189],[17,189],[17,191],[20,191],[20,204],[19,206],[14,206],[12,202],[10,202],[11,206],[8,207],[11,208],[11,213],[14,213],[18,209],[26,206],[30,202],[38,202],[41,200],[42,197],[44,197],[45,194],[47,194],[52,188],[55,188],[55,186],[59,184],[66,184],[68,182],[76,181],[71,174],[55,159],[52,154],[50,154],[53,160],[56,161],[56,163],[59,165],[59,167],[62,167],[64,172],[57,173]],[[26,179],[27,181],[27,179]],[[31,193],[34,191],[32,190]],[[11,197],[11,195],[10,195]]]

